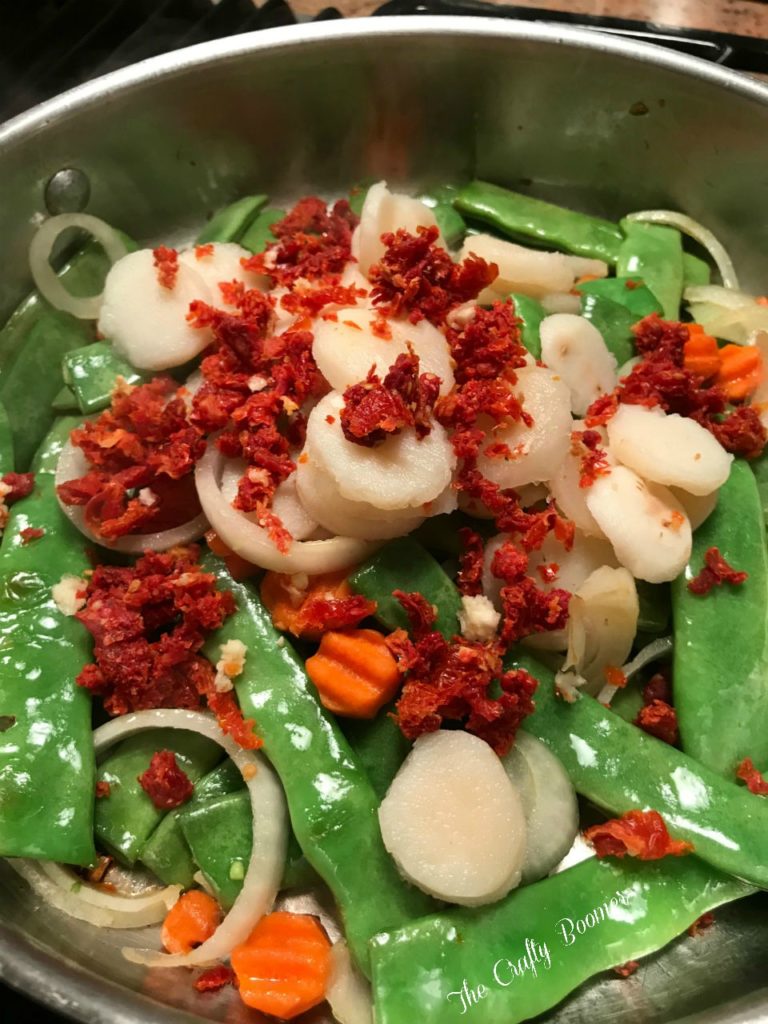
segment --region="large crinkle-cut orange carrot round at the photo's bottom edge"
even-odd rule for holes
[[[231,953],[246,1006],[291,1020],[326,997],[331,943],[315,918],[275,910]]]

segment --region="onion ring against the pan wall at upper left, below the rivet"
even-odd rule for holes
[[[49,217],[40,225],[30,244],[30,270],[43,298],[56,309],[72,313],[79,319],[97,319],[103,293],[87,297],[73,295],[49,262],[56,239],[69,227],[80,227],[92,234],[103,248],[110,263],[117,263],[128,250],[114,227],[89,213],[61,213]]]

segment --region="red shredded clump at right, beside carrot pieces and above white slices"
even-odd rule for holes
[[[723,447],[733,455],[755,459],[768,441],[760,415],[751,406],[725,415],[727,399],[717,386],[705,387],[684,366],[684,347],[689,332],[685,324],[663,321],[657,313],[633,327],[635,347],[642,356],[616,388],[590,406],[588,427],[602,426],[613,416],[620,402],[659,407],[695,420],[710,430]]]

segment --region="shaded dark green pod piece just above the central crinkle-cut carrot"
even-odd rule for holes
[[[389,630],[408,629],[409,620],[392,591],[424,594],[437,608],[435,629],[450,639],[459,632],[461,597],[451,579],[420,544],[408,537],[390,541],[349,575],[357,594],[377,602],[376,617]]]

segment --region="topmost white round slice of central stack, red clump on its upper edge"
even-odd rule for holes
[[[309,414],[306,451],[335,480],[342,498],[374,508],[410,510],[423,506],[451,483],[456,457],[438,423],[421,440],[411,429],[392,434],[374,447],[348,441],[341,429],[343,397],[327,394]]]

